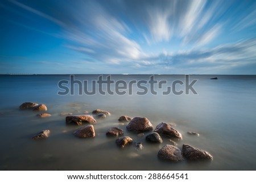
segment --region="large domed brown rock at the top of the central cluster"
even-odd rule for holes
[[[133,132],[147,132],[153,129],[153,125],[146,117],[134,117],[126,129]]]

